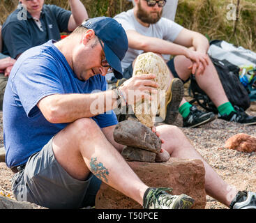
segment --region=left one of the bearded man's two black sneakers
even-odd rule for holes
[[[183,118],[183,127],[195,128],[199,125],[209,123],[215,119],[213,112],[202,112],[193,105],[190,107],[190,113],[186,118]]]

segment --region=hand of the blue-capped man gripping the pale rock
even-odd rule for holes
[[[158,83],[153,79],[154,74],[143,74],[131,77],[119,89],[126,95],[126,102],[133,104],[142,99],[151,100],[151,93],[157,93]]]

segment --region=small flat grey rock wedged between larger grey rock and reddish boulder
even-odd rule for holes
[[[156,153],[144,149],[125,146],[121,153],[128,161],[155,162]]]

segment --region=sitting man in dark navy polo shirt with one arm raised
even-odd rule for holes
[[[20,0],[17,9],[3,24],[3,54],[17,59],[31,47],[60,40],[61,32],[73,31],[88,19],[80,0],[68,0],[71,12],[58,6],[45,5],[44,0]]]

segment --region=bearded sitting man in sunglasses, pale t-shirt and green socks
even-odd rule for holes
[[[128,36],[129,49],[122,61],[124,77],[131,77],[134,61],[142,52],[174,55],[174,59],[167,61],[172,78],[179,77],[185,83],[191,73],[195,75],[199,87],[218,108],[218,118],[246,125],[256,124],[256,117],[236,111],[227,99],[216,68],[207,55],[208,40],[200,33],[161,17],[165,3],[165,0],[135,0],[133,9],[114,17]],[[193,128],[215,118],[212,112],[201,112],[184,98],[179,112],[184,127]]]

